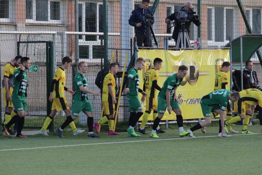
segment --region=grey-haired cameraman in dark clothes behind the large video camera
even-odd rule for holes
[[[186,2],[184,4],[184,7],[181,8],[181,10],[188,10],[189,12],[194,12],[193,9],[192,9],[192,3],[191,2]],[[196,16],[197,16],[196,19],[189,20],[188,22],[185,22],[185,29],[187,30],[188,35],[190,35],[190,24],[191,24],[191,22],[193,22],[196,26],[200,26],[200,24],[201,24],[201,22],[198,18],[198,15],[196,15]],[[170,23],[170,21],[173,21],[173,20],[175,20],[175,13],[168,16],[165,19],[165,23]],[[176,47],[181,48],[181,43],[179,44],[179,46],[177,46],[177,39],[178,39],[179,30],[181,28],[181,23],[177,22],[177,21],[175,21],[175,23],[176,23],[176,26],[174,27],[172,38],[176,41]],[[189,47],[189,44],[190,43],[186,42],[187,48]]]

